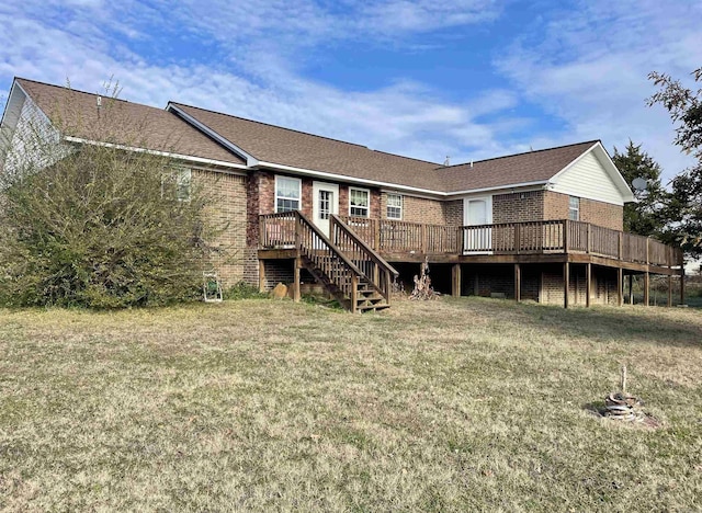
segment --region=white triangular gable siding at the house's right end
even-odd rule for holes
[[[554,192],[623,205],[624,197],[592,151],[554,180]]]

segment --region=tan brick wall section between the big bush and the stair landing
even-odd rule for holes
[[[224,228],[216,240],[211,241],[219,250],[213,258],[213,265],[224,285],[231,286],[241,280],[256,283],[256,253],[247,246],[248,178],[194,169],[193,182],[213,200],[208,215],[216,228]]]

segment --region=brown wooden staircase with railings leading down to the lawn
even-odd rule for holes
[[[309,271],[346,309],[364,312],[390,306],[392,283],[397,271],[339,217],[332,215],[329,219],[330,237],[299,212],[262,217],[262,231],[274,232],[285,246],[294,244],[296,267]],[[282,228],[268,230],[267,224]]]

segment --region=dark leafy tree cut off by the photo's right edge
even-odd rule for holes
[[[702,68],[691,73],[702,80]],[[652,72],[648,78],[659,88],[648,99],[649,105],[661,104],[677,125],[675,144],[694,157],[697,162],[671,182],[669,215],[679,241],[690,254],[702,253],[702,89],[692,91],[666,73]]]

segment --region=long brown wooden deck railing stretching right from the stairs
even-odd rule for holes
[[[655,239],[575,220],[444,226],[364,217],[342,219],[383,254],[587,253],[668,267],[681,262],[679,249]]]

